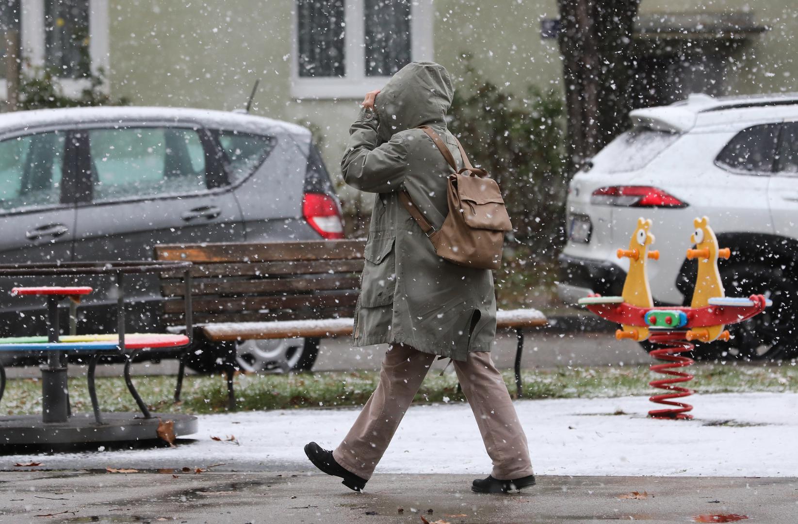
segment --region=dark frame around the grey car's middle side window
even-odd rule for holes
[[[96,202],[94,200],[94,183],[91,176],[85,176],[85,173],[91,172],[92,156],[91,145],[89,140],[89,132],[97,129],[101,130],[120,130],[120,129],[142,129],[142,128],[157,128],[157,129],[189,129],[194,131],[199,136],[199,141],[203,146],[205,154],[205,185],[204,191],[193,191],[186,193],[168,193],[168,194],[155,194],[155,195],[141,195],[128,198],[103,200]],[[204,195],[215,195],[231,191],[230,183],[227,180],[227,171],[225,171],[223,164],[220,161],[219,152],[212,140],[210,133],[203,126],[184,123],[155,123],[155,122],[125,122],[124,125],[113,123],[92,123],[81,126],[80,128],[73,128],[73,133],[84,133],[82,138],[77,139],[77,161],[75,163],[75,201],[77,207],[87,206],[113,206],[120,203],[136,203],[136,202],[151,202],[152,200],[166,200],[166,199],[187,199],[196,198]],[[77,175],[77,173],[81,175]],[[209,187],[211,179],[216,179],[220,185]]]

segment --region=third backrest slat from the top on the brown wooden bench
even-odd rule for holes
[[[275,278],[275,279],[242,279],[242,280],[209,280],[192,286],[192,296],[217,294],[267,294],[279,291],[313,291],[313,290],[358,290],[360,277],[342,277],[338,275],[322,275],[315,278]],[[165,284],[161,293],[170,297],[182,297],[183,284]]]

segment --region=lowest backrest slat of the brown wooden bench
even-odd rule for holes
[[[251,311],[252,309],[314,309],[334,305],[354,305],[358,294],[354,291],[349,294],[323,294],[323,295],[290,295],[286,297],[219,297],[199,298],[192,301],[192,310],[196,312],[230,313],[235,311]],[[182,300],[164,301],[164,313],[180,313],[185,304]]]

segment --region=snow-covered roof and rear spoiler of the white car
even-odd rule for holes
[[[717,128],[777,122],[798,118],[798,93],[776,93],[741,97],[710,97],[702,93],[685,100],[630,112],[634,124],[660,131],[687,132],[693,128]]]

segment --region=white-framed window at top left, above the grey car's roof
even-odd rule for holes
[[[108,0],[0,0],[0,96],[6,97],[7,33],[18,39],[23,74],[49,69],[74,95],[89,73],[108,66],[108,24]]]

